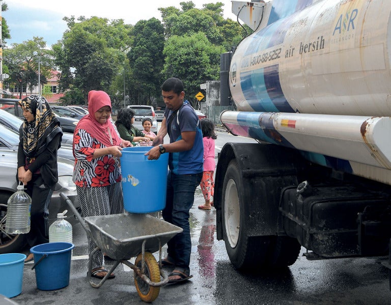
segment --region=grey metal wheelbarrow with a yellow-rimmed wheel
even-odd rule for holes
[[[102,286],[117,266],[123,263],[134,271],[134,284],[139,297],[145,302],[154,301],[159,295],[160,287],[169,281],[161,268],[161,247],[183,229],[148,214],[124,212],[83,219],[72,201],[63,193],[60,196],[96,245],[89,256],[88,276],[91,277],[92,257],[97,251],[101,250],[115,260],[99,283],[90,280],[91,286]],[[159,251],[159,262],[152,255],[156,251]],[[134,264],[128,261],[132,257],[136,258]]]

